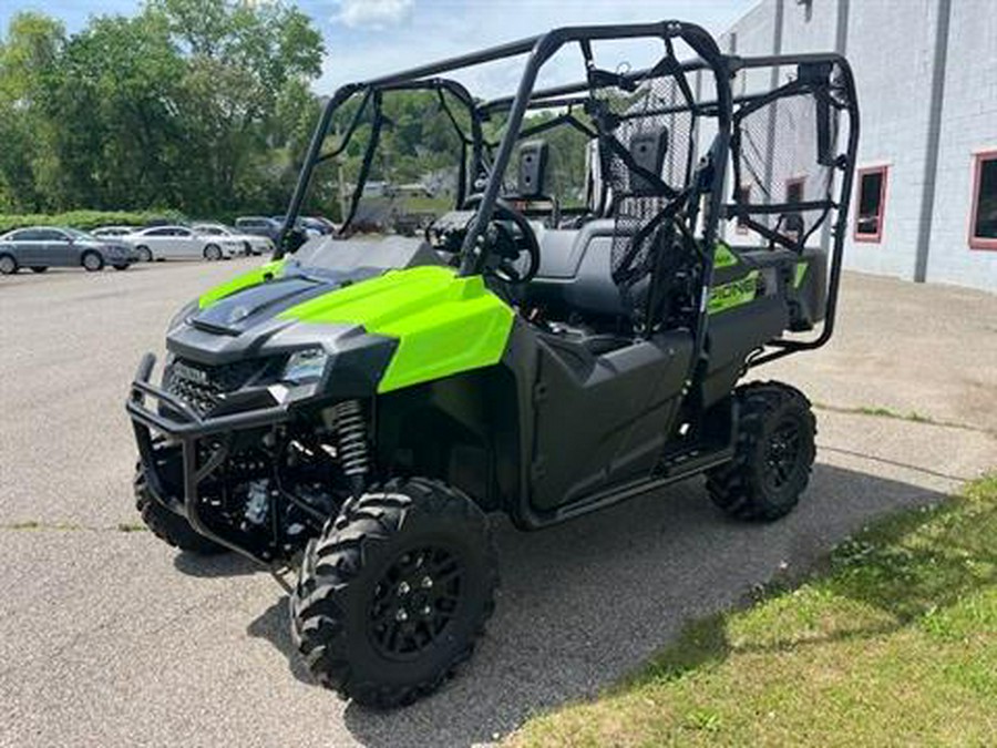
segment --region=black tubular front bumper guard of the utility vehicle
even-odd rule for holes
[[[182,399],[150,382],[155,363],[156,357],[152,353],[142,358],[125,402],[135,430],[138,458],[153,498],[169,511],[186,518],[191,526],[205,537],[254,561],[268,564],[270,560],[259,557],[217,534],[204,522],[199,512],[199,486],[228,459],[230,437],[235,432],[285,423],[290,419],[288,406],[275,404],[216,417],[202,416]],[[146,398],[158,400],[167,407],[166,410],[150,408]],[[183,463],[179,492],[162,474],[154,433],[165,437],[172,445],[179,445]],[[223,436],[222,439],[218,439],[219,436]],[[201,459],[198,445],[208,438],[218,441],[218,444],[207,459]]]

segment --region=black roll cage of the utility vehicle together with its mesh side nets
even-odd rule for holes
[[[662,42],[664,54],[655,65],[625,72],[596,65],[594,43],[639,38]],[[685,57],[677,52],[677,44],[687,52]],[[566,45],[577,45],[585,61],[584,80],[536,89],[543,65]],[[448,78],[458,70],[522,55],[526,55],[525,68],[513,95],[477,100],[462,83]],[[693,73],[697,74],[695,84]],[[784,73],[787,80],[781,78]],[[756,85],[758,81],[762,81],[760,89]],[[736,95],[734,86],[739,83],[742,91]],[[749,92],[749,83],[756,90]],[[701,88],[707,88],[712,98],[705,96]],[[643,90],[651,93],[644,95]],[[459,254],[461,274],[477,274],[485,266],[486,249],[480,248],[480,238],[502,197],[506,170],[517,143],[567,126],[596,144],[598,176],[593,176],[595,170],[589,172],[587,198],[594,215],[616,218],[621,238],[614,243],[614,280],[627,293],[638,281],[650,278],[650,290],[641,301],[646,306],[647,329],[654,326],[655,305],[671,287],[671,276],[685,271],[669,257],[675,253],[661,247],[679,247],[695,259],[696,288],[682,321],[693,334],[693,371],[689,372],[689,379],[705,360],[715,269],[711,248],[722,234],[723,222],[736,221],[739,230],[746,228],[770,249],[801,253],[815,238],[820,238],[825,249],[832,245],[820,334],[809,340],[799,337],[772,340],[771,347],[753,357],[749,366],[816,348],[830,339],[859,137],[854,81],[841,55],[724,55],[702,28],[662,21],[561,28],[401,73],[346,84],[322,110],[291,196],[287,223],[278,237],[276,258],[285,253],[288,227],[294,226],[301,211],[316,166],[341,154],[369,115],[370,139],[343,223],[343,230],[349,228],[386,124],[383,98],[393,91],[435,93],[460,139],[455,207],[462,207],[471,195],[480,196]],[[325,151],[333,116],[354,96],[360,98],[359,109],[335,147]],[[458,106],[465,124],[454,114]],[[524,127],[527,112],[555,109],[564,111],[538,125]],[[839,152],[842,113],[847,115],[847,139]],[[485,139],[483,123],[495,114],[505,116],[505,130],[501,140],[492,143]],[[680,132],[685,140],[681,151],[669,150],[667,174],[662,173],[661,163],[649,165],[636,158],[630,147],[635,137],[645,137],[655,126],[664,127],[666,133]],[[623,142],[621,133],[629,134],[629,144]],[[710,133],[711,144],[705,148],[703,136]],[[785,133],[802,137],[785,137]],[[813,144],[809,139],[814,133],[815,157],[800,170],[793,164],[800,161],[804,146]],[[780,198],[779,181],[785,180],[788,191],[790,177],[784,172],[794,170],[805,172],[792,176],[803,186],[792,199],[789,194]],[[809,224],[803,215],[811,217]],[[666,227],[678,235],[678,240],[661,239],[661,229]]]

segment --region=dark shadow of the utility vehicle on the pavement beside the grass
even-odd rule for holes
[[[502,588],[471,663],[436,695],[379,713],[350,704],[347,728],[367,746],[469,746],[537,711],[589,697],[668,644],[690,618],[716,615],[777,574],[799,574],[870,520],[945,495],[816,465],[799,510],[742,524],[710,505],[700,481],[648,494],[537,533],[495,523]],[[294,653],[286,598],[249,626]],[[336,698],[329,694],[329,698]]]

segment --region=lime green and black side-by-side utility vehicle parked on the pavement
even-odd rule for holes
[[[635,42],[654,64],[605,59]],[[555,55],[579,82],[537,84]],[[511,58],[513,95],[461,82]],[[138,511],[185,551],[297,570],[311,673],[380,707],[470,656],[497,584],[489,513],[535,530],[705,474],[724,512],[783,516],[814,417],[740,382],[831,337],[857,137],[843,58],[726,55],[676,21],[342,86],[273,262],[181,310],[160,385],[152,355],[138,368]],[[421,236],[359,230],[419,177],[420,209],[448,201]],[[291,252],[330,183],[339,235]]]

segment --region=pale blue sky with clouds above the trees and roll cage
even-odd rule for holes
[[[267,2],[269,0],[246,0]],[[678,19],[719,34],[758,0],[299,0],[326,43],[321,78],[315,90],[329,94],[359,81],[433,62],[485,47],[543,33],[558,25],[633,23]],[[134,13],[140,0],[0,0],[0,29],[20,10],[41,10],[62,19],[72,32],[91,14]],[[641,68],[654,62],[660,45],[628,42],[596,49],[600,66]],[[458,75],[472,93],[513,93],[523,61],[493,63]],[[574,49],[551,61],[541,84],[556,85],[582,76]]]

